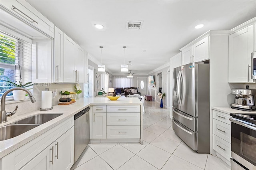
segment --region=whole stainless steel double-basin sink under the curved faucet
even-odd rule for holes
[[[63,113],[43,113],[0,127],[0,141],[14,138],[28,130],[31,130],[32,128],[38,127],[43,123],[59,117],[60,115],[63,115]]]

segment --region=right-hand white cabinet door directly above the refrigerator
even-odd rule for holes
[[[194,53],[194,61],[204,61],[209,59],[209,45],[208,45],[208,37],[203,40],[195,43],[193,45],[193,53]]]

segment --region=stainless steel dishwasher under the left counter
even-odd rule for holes
[[[89,143],[89,107],[76,113],[74,117],[74,163]]]

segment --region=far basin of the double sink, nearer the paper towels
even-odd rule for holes
[[[43,113],[43,114],[38,114],[38,115],[33,115],[31,117],[27,117],[25,119],[15,122],[14,124],[41,125],[41,124],[46,123],[56,117],[59,117],[60,115],[63,115],[63,113]]]

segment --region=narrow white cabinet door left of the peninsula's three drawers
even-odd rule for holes
[[[93,113],[92,138],[106,139],[106,113]]]

